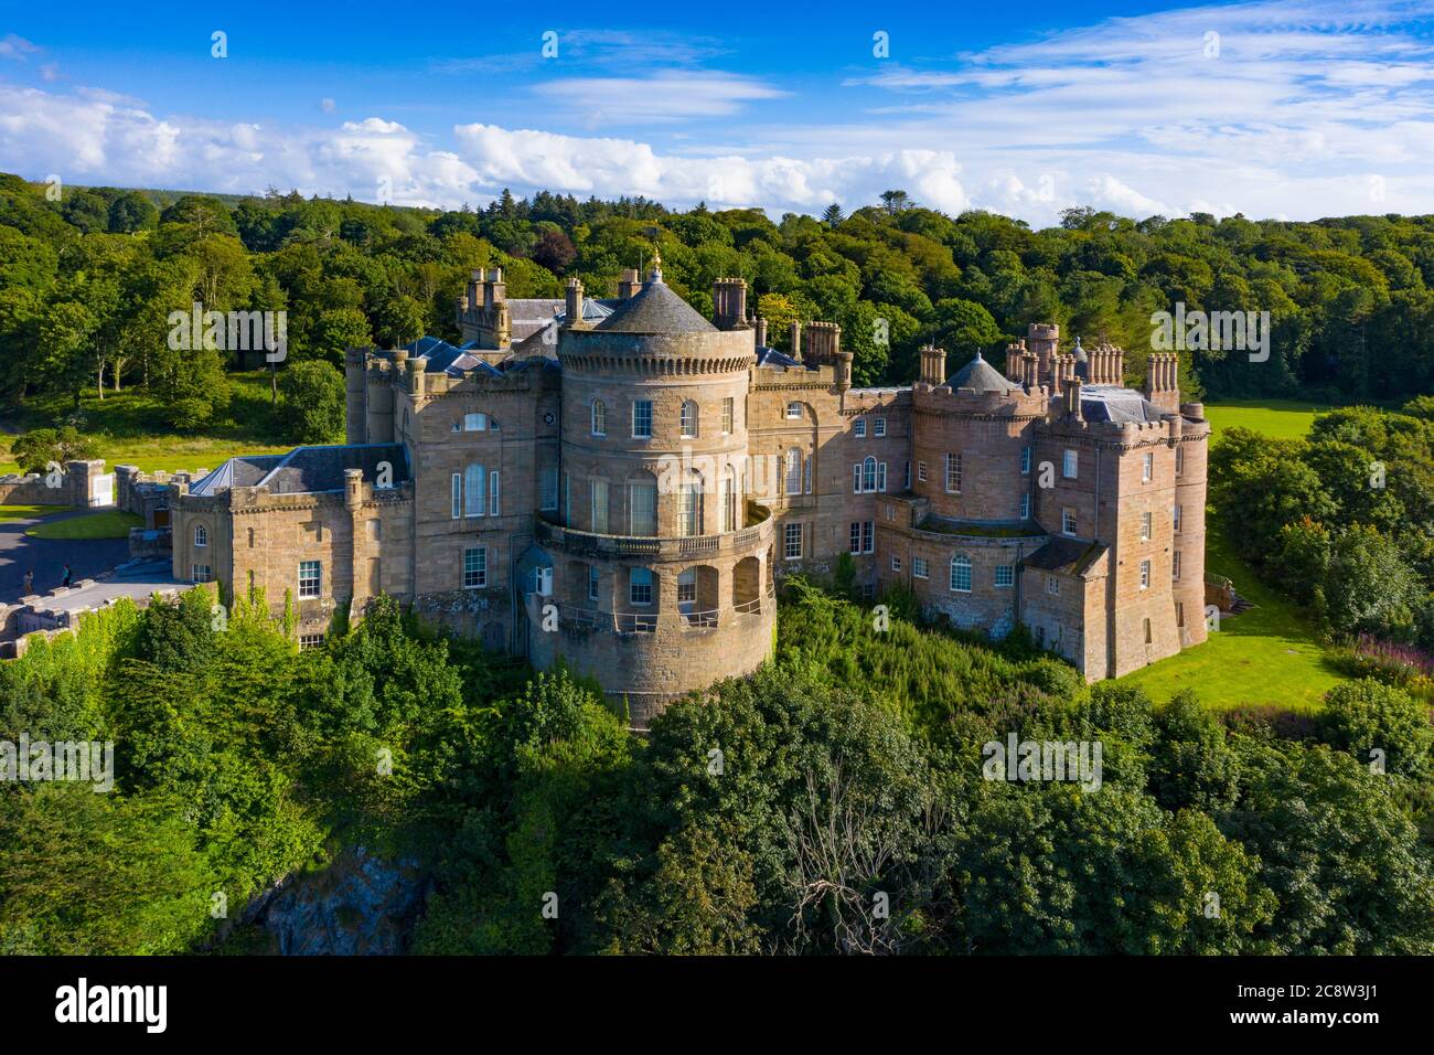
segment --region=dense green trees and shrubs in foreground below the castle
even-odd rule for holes
[[[793,583],[779,660],[648,738],[393,601],[308,652],[242,604],[215,632],[205,590],[122,604],[0,666],[0,736],[110,738],[119,771],[0,794],[0,952],[261,950],[245,901],[353,844],[433,877],[420,953],[1434,952],[1400,689],[1222,721],[891,600],[882,632]],[[984,779],[1008,732],[1098,739],[1103,785]]]

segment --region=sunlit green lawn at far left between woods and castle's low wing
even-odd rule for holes
[[[159,402],[142,389],[106,392],[96,398],[89,389],[80,403],[83,425],[80,432],[90,436],[109,469],[116,465],[138,465],[145,472],[155,469],[212,469],[227,458],[241,454],[284,454],[293,444],[284,441],[270,405],[268,373],[255,370],[229,376],[232,398],[227,421],[206,426],[198,435],[166,432],[159,422]],[[4,422],[16,432],[53,428],[73,412],[73,400],[65,398],[32,399],[20,408],[4,412]],[[341,441],[336,438],[336,442]],[[0,436],[0,474],[19,472],[10,458],[14,436]]]

